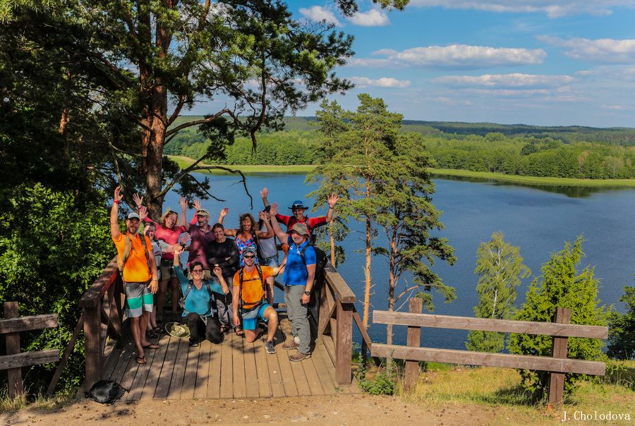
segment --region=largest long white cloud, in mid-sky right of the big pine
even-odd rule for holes
[[[450,46],[413,47],[404,51],[380,49],[373,52],[373,56],[385,56],[385,58],[353,59],[349,61],[349,65],[373,68],[421,66],[425,68],[475,69],[542,63],[547,54],[543,49],[452,44]]]

